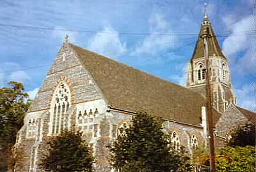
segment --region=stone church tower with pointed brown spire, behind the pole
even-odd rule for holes
[[[202,34],[205,29],[209,29],[210,38],[208,39],[209,52],[209,73],[211,75],[211,91],[213,106],[216,110],[224,112],[230,103],[236,104],[236,97],[232,90],[230,81],[230,69],[228,60],[221,52],[220,45],[212,29],[211,22],[204,15],[204,20],[196,41],[195,50],[188,63],[186,70],[186,87],[195,92],[206,95],[205,92],[205,61],[204,61],[204,39]]]

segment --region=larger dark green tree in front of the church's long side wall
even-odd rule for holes
[[[147,113],[132,117],[113,145],[109,146],[111,163],[120,172],[170,172],[186,168],[184,151],[175,152],[168,134],[163,132],[163,121]]]

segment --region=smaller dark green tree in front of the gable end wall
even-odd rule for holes
[[[63,131],[47,143],[49,151],[43,155],[40,166],[45,171],[84,171],[92,172],[94,158],[92,150],[81,133]]]

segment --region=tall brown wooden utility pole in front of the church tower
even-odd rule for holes
[[[214,134],[213,134],[213,117],[212,117],[212,94],[209,73],[209,54],[208,54],[208,39],[211,38],[209,27],[205,27],[204,33],[200,36],[204,39],[204,61],[205,61],[205,90],[207,102],[207,122],[208,122],[208,138],[210,148],[210,171],[216,172],[215,168],[215,153],[214,153]]]

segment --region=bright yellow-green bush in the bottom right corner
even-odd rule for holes
[[[254,172],[255,147],[225,147],[216,156],[218,172]]]

